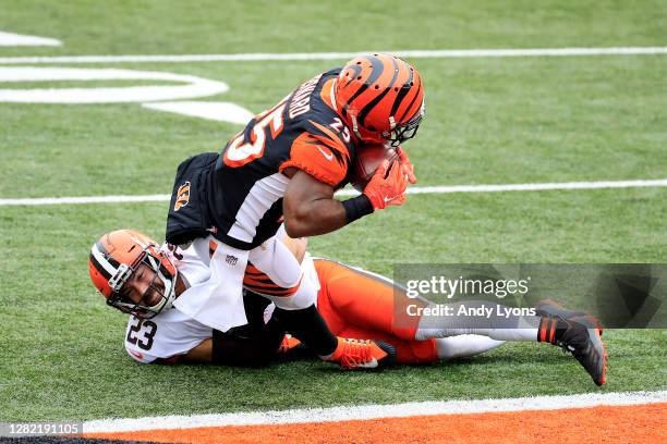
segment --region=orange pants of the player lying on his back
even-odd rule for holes
[[[369,273],[339,262],[315,260],[320,289],[317,309],[337,336],[381,340],[393,345],[397,361],[423,363],[437,360],[435,340],[415,341],[417,319],[413,324],[396,325],[395,310],[408,304],[422,304],[410,299],[390,283]]]

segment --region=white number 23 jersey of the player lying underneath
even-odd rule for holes
[[[165,250],[191,286],[208,280],[210,274],[208,238],[198,238],[184,250],[170,251],[166,248]],[[302,269],[303,280],[318,291],[317,272],[308,254],[302,262]],[[274,308],[272,303],[267,307],[265,321],[270,319]],[[213,328],[171,307],[153,319],[141,320],[131,316],[125,331],[125,349],[132,358],[148,363],[156,359],[184,355],[210,337],[213,337]]]

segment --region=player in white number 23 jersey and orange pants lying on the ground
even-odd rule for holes
[[[602,385],[606,380],[606,353],[595,320],[569,311],[555,303],[544,303],[534,319],[516,319],[514,328],[471,329],[448,325],[424,326],[421,317],[396,322],[397,310],[409,305],[429,306],[409,298],[393,283],[377,274],[326,259],[313,259],[305,251],[305,239],[292,239],[283,231],[281,242],[303,268],[303,279],[317,291],[318,311],[336,335],[373,337],[391,344],[392,358],[400,363],[433,362],[472,356],[495,348],[505,341],[533,341],[559,345],[571,351]],[[107,257],[100,257],[100,245]],[[221,333],[172,306],[187,288],[208,278],[210,246],[204,238],[189,248],[160,248],[138,232],[121,230],[102,236],[93,246],[89,272],[107,303],[131,313],[125,333],[128,353],[141,362],[206,362],[256,366],[268,363],[279,349],[299,344],[286,335],[275,306],[245,298],[248,323]],[[112,261],[120,273],[108,278],[100,261]],[[104,268],[104,267],[102,267]],[[263,276],[248,270],[246,288],[257,289]],[[259,288],[260,289],[260,288]],[[534,325],[534,326],[533,326]],[[368,361],[368,356],[350,354],[351,360]],[[355,368],[349,362],[348,368]]]

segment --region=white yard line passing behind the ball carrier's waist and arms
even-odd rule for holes
[[[605,182],[548,182],[542,184],[506,185],[456,185],[456,186],[413,186],[408,194],[452,194],[452,193],[500,193],[500,192],[543,192],[550,189],[604,189],[666,187],[667,178],[655,181],[605,181]],[[337,196],[356,196],[354,189],[341,189]],[[171,195],[145,196],[84,196],[84,197],[36,197],[25,199],[0,199],[0,207],[74,205],[74,203],[125,203],[169,201]]]

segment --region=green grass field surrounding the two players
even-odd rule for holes
[[[363,11],[351,1],[229,3],[0,0],[0,30],[63,41],[0,47],[0,58],[667,46],[659,1],[397,1]],[[228,92],[196,100],[259,112],[342,62],[58,66],[222,81]],[[667,177],[667,55],[411,62],[427,94],[420,134],[405,145],[419,185]],[[0,102],[0,198],[168,194],[180,161],[219,150],[239,130],[140,103]],[[385,274],[396,262],[663,263],[666,201],[664,187],[419,195],[313,238],[311,250]],[[601,391],[574,359],[535,344],[372,374],[318,361],[138,365],[123,349],[126,319],[94,292],[86,260],[110,230],[161,239],[166,212],[166,202],[0,207],[0,421]],[[611,330],[605,340],[610,370],[602,391],[667,387],[666,331]]]

